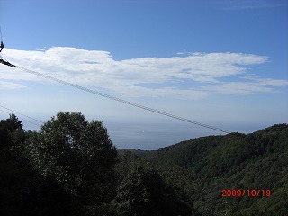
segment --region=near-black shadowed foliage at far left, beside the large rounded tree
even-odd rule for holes
[[[0,122],[0,215],[79,215],[73,197],[23,157],[28,137],[16,116]]]

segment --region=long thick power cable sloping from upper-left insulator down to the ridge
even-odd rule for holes
[[[71,87],[80,89],[82,91],[85,91],[85,92],[88,92],[88,93],[91,93],[91,94],[96,94],[96,95],[99,95],[99,96],[103,96],[103,97],[106,97],[106,98],[111,99],[113,101],[117,101],[117,102],[120,102],[120,103],[125,103],[125,104],[128,104],[128,105],[137,107],[139,109],[142,109],[142,110],[146,110],[146,111],[149,111],[149,112],[155,112],[157,114],[165,115],[167,117],[170,117],[170,118],[173,118],[173,119],[176,119],[176,120],[185,121],[185,122],[192,123],[192,124],[195,124],[195,125],[198,125],[198,126],[202,126],[204,128],[208,128],[208,129],[211,129],[211,130],[218,130],[218,131],[224,132],[224,133],[230,133],[231,132],[229,130],[216,128],[214,126],[211,126],[211,125],[208,125],[208,124],[204,124],[204,123],[201,123],[201,122],[198,122],[198,121],[189,120],[189,119],[186,119],[184,117],[180,117],[180,116],[177,116],[177,115],[174,115],[174,114],[170,114],[170,113],[167,113],[167,112],[162,112],[162,111],[159,111],[159,110],[156,110],[156,109],[153,109],[153,108],[150,108],[148,106],[144,106],[144,105],[141,105],[141,104],[138,104],[138,103],[132,103],[130,101],[126,101],[126,100],[123,100],[121,98],[109,95],[109,94],[103,94],[101,92],[94,91],[94,90],[92,90],[90,88],[86,88],[86,87],[83,87],[81,85],[72,84],[72,83],[69,83],[67,81],[58,79],[58,78],[53,77],[53,76],[44,75],[44,74],[41,74],[39,72],[33,71],[31,69],[27,69],[25,67],[19,67],[19,66],[15,66],[15,67],[17,67],[18,69],[23,70],[23,71],[25,71],[27,73],[30,73],[30,74],[33,74],[33,75],[36,75],[36,76],[40,76],[40,77],[43,77],[43,78],[46,78],[46,79],[49,79],[49,80],[52,80],[54,82],[58,82],[58,83],[63,84],[63,85],[69,85]]]

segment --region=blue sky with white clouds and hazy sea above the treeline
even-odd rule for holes
[[[0,8],[1,55],[17,66],[225,130],[288,121],[287,1],[2,0]],[[59,111],[101,120],[117,148],[220,134],[4,65],[0,91],[0,105],[40,121]]]

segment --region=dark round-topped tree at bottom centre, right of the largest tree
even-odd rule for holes
[[[134,167],[123,179],[117,200],[123,215],[191,215],[192,208],[155,169]]]

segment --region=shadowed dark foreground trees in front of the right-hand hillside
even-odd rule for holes
[[[169,176],[169,175],[167,175]],[[0,121],[0,215],[198,215],[147,160],[121,156],[101,121],[58,112],[40,131]]]

